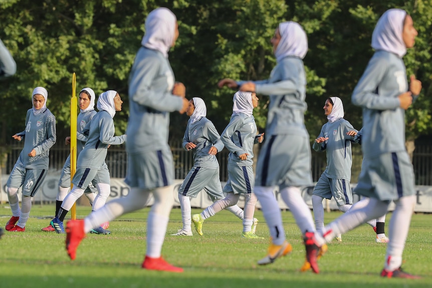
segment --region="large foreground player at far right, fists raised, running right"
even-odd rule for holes
[[[362,150],[364,167],[354,191],[369,197],[365,207],[354,207],[316,234],[320,243],[331,241],[396,204],[389,225],[389,242],[383,277],[417,278],[404,272],[402,252],[415,205],[414,172],[405,149],[405,110],[421,91],[414,75],[408,86],[402,57],[414,46],[417,31],[403,10],[387,10],[372,34],[375,53],[352,94],[352,102],[363,108]]]

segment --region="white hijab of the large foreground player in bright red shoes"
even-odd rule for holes
[[[145,34],[141,45],[160,51],[168,58],[168,51],[174,38],[175,23],[177,19],[169,9],[160,7],[147,16],[145,21]]]

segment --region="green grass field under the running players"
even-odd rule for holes
[[[192,237],[170,236],[181,226],[178,208],[171,212],[162,254],[183,267],[183,273],[141,269],[149,208],[112,221],[111,235],[87,235],[76,260],[71,261],[64,247],[65,235],[41,231],[54,210],[54,205],[33,205],[26,232],[6,231],[0,240],[0,287],[432,287],[432,215],[428,214],[412,217],[402,267],[422,279],[407,280],[379,277],[386,244],[375,243],[368,225],[346,233],[341,243],[329,244],[319,261],[320,274],[300,272],[304,246],[290,212],[282,216],[293,252],[267,266],[256,264],[269,242],[261,211],[256,212],[261,221],[257,234],[266,239],[249,240],[240,235],[241,221],[225,210],[204,222],[203,237],[194,230]],[[199,211],[192,209],[192,213]],[[77,207],[78,218],[89,212],[89,207]],[[325,220],[339,215],[326,213]],[[0,205],[0,227],[10,216],[9,205]],[[387,219],[390,217],[388,214]]]

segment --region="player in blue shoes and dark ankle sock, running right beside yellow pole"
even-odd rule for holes
[[[72,178],[74,188],[66,195],[56,217],[51,220],[51,226],[57,233],[64,233],[63,220],[72,208],[72,205],[84,194],[90,183],[94,183],[98,194],[93,202],[92,211],[105,205],[110,193],[110,176],[105,163],[107,149],[110,145],[120,145],[126,141],[126,135],[114,136],[115,128],[113,117],[116,111],[121,111],[120,95],[117,91],[108,90],[98,99],[98,113],[84,128],[83,134],[88,133],[88,139],[83,151],[77,158],[77,171]],[[96,227],[92,232],[109,234],[103,227]]]

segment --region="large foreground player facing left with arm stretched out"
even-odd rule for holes
[[[258,156],[255,193],[269,226],[272,244],[258,264],[272,263],[292,250],[285,239],[281,211],[274,195],[274,188],[278,186],[304,236],[307,259],[318,273],[316,256],[320,247],[315,241],[312,213],[299,188],[312,185],[309,134],[304,125],[307,105],[303,58],[308,51],[308,41],[302,27],[290,21],[279,24],[271,43],[277,65],[270,79],[257,82],[223,79],[218,85],[233,89],[240,86],[240,91],[270,96],[266,127],[269,138]]]

